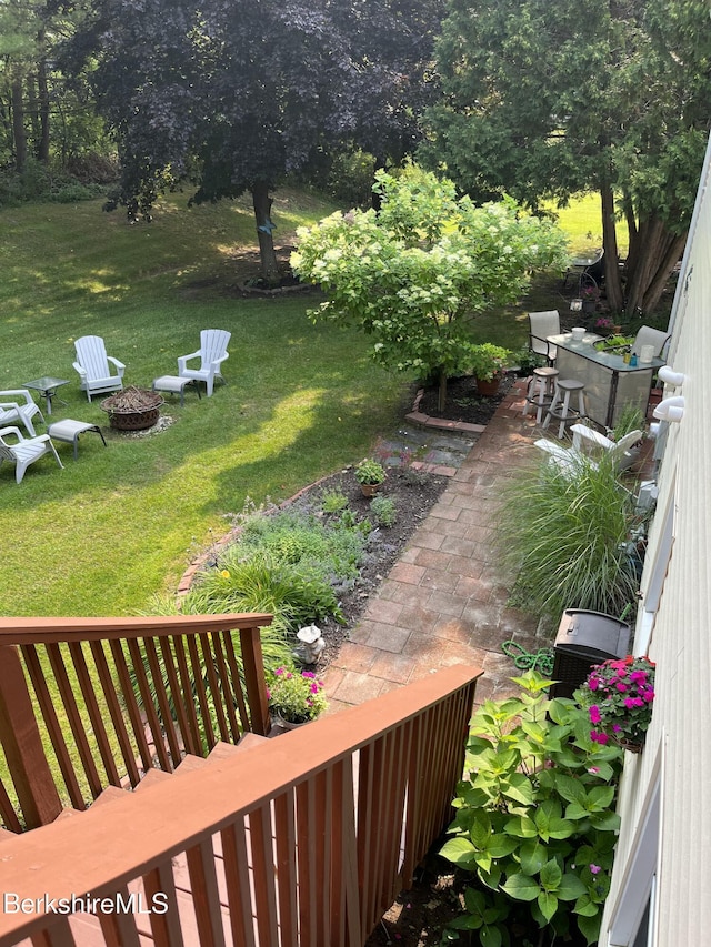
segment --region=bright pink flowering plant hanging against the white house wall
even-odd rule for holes
[[[654,664],[632,655],[605,661],[592,668],[577,696],[588,707],[591,739],[641,745],[652,719]]]

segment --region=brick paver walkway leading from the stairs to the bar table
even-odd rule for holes
[[[479,701],[514,694],[509,678],[520,672],[502,643],[530,652],[551,644],[534,616],[507,605],[491,542],[501,482],[541,436],[535,415],[522,414],[524,394],[522,381],[501,403],[329,667],[332,711],[451,664],[483,668]]]

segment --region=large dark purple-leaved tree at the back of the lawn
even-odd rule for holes
[[[408,139],[431,61],[437,0],[96,0],[73,43],[96,58],[113,129],[117,202],[148,214],[184,177],[193,200],[251,193],[262,272],[277,275],[270,192],[329,143]],[[410,19],[412,14],[412,20]],[[390,41],[387,41],[390,39]],[[414,77],[414,78],[413,78]],[[420,77],[420,78],[417,78]],[[421,80],[421,81],[420,81]]]

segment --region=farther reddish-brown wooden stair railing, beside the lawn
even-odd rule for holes
[[[0,744],[13,783],[0,782],[4,825],[44,825],[108,785],[172,770],[186,752],[266,734],[259,628],[270,622],[0,618]]]

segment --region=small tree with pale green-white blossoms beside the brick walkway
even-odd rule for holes
[[[469,321],[515,302],[531,273],[562,265],[564,235],[512,201],[477,208],[454,184],[410,169],[377,173],[380,212],[336,213],[298,231],[291,264],[329,296],[314,318],[373,336],[375,361],[440,377],[471,367]]]

